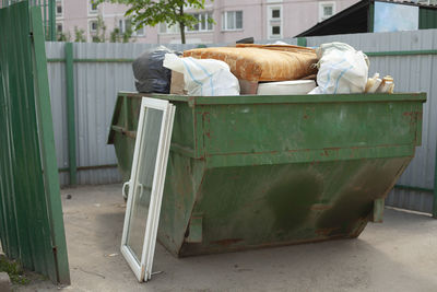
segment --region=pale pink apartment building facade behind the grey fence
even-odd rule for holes
[[[234,43],[245,37],[280,39],[293,37],[318,22],[346,9],[358,0],[215,0],[208,1],[205,9],[187,12],[199,17],[200,23],[187,30],[187,43],[212,44]],[[126,5],[103,3],[92,4],[91,0],[57,0],[57,31],[74,42],[75,31],[82,30],[87,42],[98,32],[99,20],[106,31],[106,42],[110,33],[118,28],[126,31],[130,25],[125,17]],[[214,24],[208,19],[212,17]],[[165,23],[155,27],[135,31],[130,42],[149,44],[180,43],[178,27]]]

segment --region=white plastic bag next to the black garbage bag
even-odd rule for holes
[[[238,79],[223,61],[179,58],[175,54],[166,54],[163,66],[184,73],[185,90],[188,95],[239,95]]]

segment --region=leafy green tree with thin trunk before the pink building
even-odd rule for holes
[[[185,9],[187,7],[204,9],[205,0],[93,0],[93,2],[127,4],[129,9],[125,15],[132,19],[132,24],[137,30],[146,25],[155,26],[160,23],[167,23],[169,26],[179,25],[180,39],[185,44],[185,28],[192,28],[199,23],[199,19],[186,13]]]

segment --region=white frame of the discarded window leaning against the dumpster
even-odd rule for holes
[[[130,214],[134,197],[137,196],[137,177],[139,174],[139,163],[142,157],[143,144],[146,141],[144,137],[144,128],[146,121],[146,108],[154,108],[163,112],[161,124],[160,140],[157,145],[155,170],[153,174],[152,191],[150,199],[150,208],[146,218],[146,226],[144,231],[144,242],[140,262],[135,259],[132,250],[128,246],[128,231]],[[121,238],[121,254],[128,261],[130,268],[140,282],[147,281],[152,277],[153,257],[156,246],[157,226],[160,223],[161,205],[163,199],[165,174],[168,162],[168,152],[170,147],[170,138],[175,117],[175,106],[168,101],[143,97],[140,107],[140,119],[138,124],[137,141],[133,152],[132,173],[129,180],[129,196],[127,210],[125,214],[125,224]]]

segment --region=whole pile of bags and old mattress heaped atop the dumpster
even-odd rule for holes
[[[133,62],[139,92],[197,96],[393,93],[390,75],[368,78],[367,56],[344,43],[319,48],[237,44],[184,55],[163,46]]]

